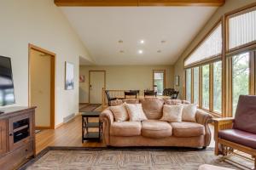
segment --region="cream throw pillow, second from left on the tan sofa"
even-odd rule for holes
[[[128,115],[130,117],[131,122],[140,122],[147,120],[145,113],[143,111],[142,104],[126,104],[125,107],[127,109]]]

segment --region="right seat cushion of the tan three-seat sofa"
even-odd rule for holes
[[[195,137],[204,135],[205,127],[196,122],[171,122],[173,136],[176,137]]]

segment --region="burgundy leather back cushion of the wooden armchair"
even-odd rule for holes
[[[256,96],[239,97],[234,128],[256,134]]]

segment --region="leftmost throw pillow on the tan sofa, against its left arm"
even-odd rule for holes
[[[129,120],[125,104],[110,106],[109,109],[113,112],[113,117],[116,122],[124,122]]]

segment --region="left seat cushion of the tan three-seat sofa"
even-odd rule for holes
[[[110,135],[113,136],[139,136],[141,135],[141,122],[113,122]]]

